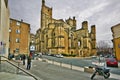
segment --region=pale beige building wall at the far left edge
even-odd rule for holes
[[[8,0],[0,0],[0,55],[6,57],[9,52],[9,15]]]

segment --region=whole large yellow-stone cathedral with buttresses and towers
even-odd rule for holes
[[[88,22],[76,29],[75,17],[54,19],[52,8],[42,0],[41,28],[36,32],[36,51],[50,54],[66,54],[86,57],[96,55],[96,27],[88,30]]]

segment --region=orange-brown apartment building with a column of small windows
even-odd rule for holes
[[[10,19],[10,54],[29,55],[30,24],[23,20]]]

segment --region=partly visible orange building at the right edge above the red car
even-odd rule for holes
[[[120,61],[120,24],[111,27],[113,47],[116,58]]]

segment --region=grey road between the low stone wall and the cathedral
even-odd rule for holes
[[[66,64],[72,64],[78,67],[85,67],[85,66],[94,66],[92,64],[92,62],[98,62],[98,58],[56,58],[56,57],[52,57],[52,56],[46,56],[43,55],[43,58],[46,58],[48,60],[54,60],[57,62],[62,62],[62,63],[66,63]],[[104,63],[104,60],[102,59],[101,62]],[[110,68],[110,72],[114,73],[114,74],[118,74],[120,75],[120,66],[117,67],[108,67]]]

